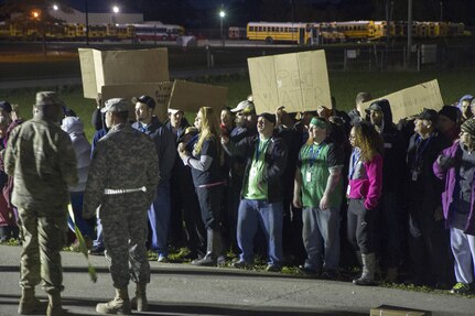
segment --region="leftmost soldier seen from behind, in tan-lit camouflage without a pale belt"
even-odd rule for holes
[[[17,127],[6,151],[6,171],[13,177],[12,204],[20,216],[22,297],[20,315],[41,305],[34,287],[43,281],[46,315],[62,315],[63,270],[60,251],[67,231],[67,186],[77,183],[76,154],[60,121],[62,101],[55,92],[36,94],[33,119]]]

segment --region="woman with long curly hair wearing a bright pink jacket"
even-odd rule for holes
[[[382,188],[382,139],[373,126],[360,122],[349,132],[349,142],[353,152],[346,192],[347,235],[363,264],[361,276],[353,283],[373,285],[376,264],[373,230]]]

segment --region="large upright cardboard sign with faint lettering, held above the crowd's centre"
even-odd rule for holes
[[[324,51],[248,58],[248,67],[258,113],[332,107]]]

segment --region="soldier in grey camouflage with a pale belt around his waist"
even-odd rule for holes
[[[159,159],[153,141],[127,123],[128,108],[125,99],[116,98],[107,100],[101,110],[110,130],[94,151],[84,197],[84,218],[99,213],[116,288],[112,301],[96,307],[106,315],[131,313],[130,277],[137,283],[137,308],[148,308],[147,210],[156,194]]]

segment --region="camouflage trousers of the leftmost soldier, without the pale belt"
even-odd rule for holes
[[[66,207],[60,209],[18,209],[23,241],[20,286],[34,288],[43,281],[48,294],[64,290],[60,251],[67,232]]]

